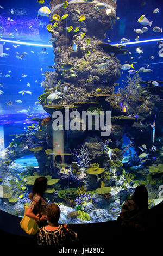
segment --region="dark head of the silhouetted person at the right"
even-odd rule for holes
[[[145,185],[140,185],[135,188],[135,192],[133,194],[134,202],[140,206],[140,208],[148,205],[148,191]]]

